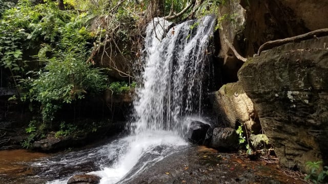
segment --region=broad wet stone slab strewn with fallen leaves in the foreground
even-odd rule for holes
[[[305,183],[284,175],[277,162],[200,146],[174,153],[126,183]]]

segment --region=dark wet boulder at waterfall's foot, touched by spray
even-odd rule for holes
[[[194,144],[203,144],[210,127],[209,124],[193,120],[188,127],[187,137]]]

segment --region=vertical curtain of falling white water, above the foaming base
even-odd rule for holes
[[[166,31],[172,23],[154,18],[147,27],[144,87],[134,103],[134,133],[181,130],[181,118],[202,114],[203,80],[209,36],[214,18],[187,21]],[[180,132],[181,133],[181,132]]]

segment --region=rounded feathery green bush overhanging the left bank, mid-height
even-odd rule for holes
[[[87,93],[97,94],[107,88],[107,77],[100,69],[92,68],[84,62],[86,58],[81,53],[74,52],[77,51],[56,53],[45,60],[44,70],[35,72],[38,78],[29,79],[31,99],[43,105],[44,121],[51,121],[61,104],[70,104]]]

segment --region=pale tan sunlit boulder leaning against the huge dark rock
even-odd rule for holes
[[[257,134],[261,130],[260,121],[252,100],[245,94],[240,82],[223,85],[215,92],[213,107],[219,122],[236,129],[245,125],[248,132]]]

